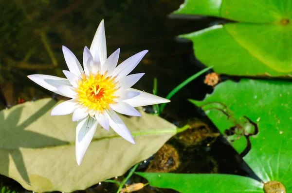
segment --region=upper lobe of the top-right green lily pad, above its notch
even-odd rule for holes
[[[226,19],[273,24],[283,18],[291,18],[291,0],[185,0],[174,14],[207,15]]]

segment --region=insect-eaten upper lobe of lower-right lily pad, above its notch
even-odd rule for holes
[[[228,112],[226,114],[234,119],[235,126],[241,127],[245,135],[250,135],[251,150],[244,157],[247,164],[264,183],[276,180],[285,186],[287,192],[291,192],[291,98],[292,82],[241,80],[238,83],[225,81],[203,101],[192,102],[202,106],[219,130],[228,129],[223,128],[226,124],[220,124],[220,120],[226,121],[222,112]],[[205,104],[208,104],[207,109],[204,109]],[[218,108],[218,104],[228,111]],[[244,125],[246,122],[242,122],[240,117],[247,117],[256,124],[258,133],[249,133],[253,129],[248,124]]]

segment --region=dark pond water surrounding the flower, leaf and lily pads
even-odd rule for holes
[[[148,49],[144,59],[132,73],[145,72],[134,88],[152,93],[153,80],[158,80],[158,95],[165,97],[183,80],[204,68],[196,60],[192,43],[179,39],[179,34],[204,29],[219,22],[214,17],[170,17],[183,0],[14,0],[1,1],[0,19],[1,68],[0,108],[11,107],[22,101],[56,97],[29,80],[29,74],[50,74],[64,77],[67,69],[62,45],[70,48],[82,61],[84,46],[90,46],[101,19],[105,19],[108,55],[121,48],[119,63],[129,56]],[[212,56],[210,56],[212,57]],[[206,129],[216,133],[215,126],[191,105],[187,99],[203,99],[212,88],[203,83],[204,76],[192,81],[172,98],[162,116],[182,126],[194,126],[197,134]],[[149,110],[151,111],[151,110]],[[207,125],[202,126],[202,122]],[[206,142],[185,145],[177,138],[171,144],[178,151],[178,173],[225,173],[247,175],[240,167],[240,157],[223,138],[209,138]],[[153,159],[153,157],[151,158]],[[138,167],[145,171],[149,161]],[[246,166],[243,166],[246,167]],[[11,190],[24,192],[17,182],[0,178]],[[122,177],[121,177],[122,179]],[[141,178],[131,178],[139,182]],[[115,192],[113,184],[102,183],[86,192]],[[159,192],[144,188],[143,192]],[[160,192],[171,192],[160,190]]]

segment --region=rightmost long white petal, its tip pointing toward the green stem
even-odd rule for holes
[[[146,106],[146,105],[154,105],[154,104],[170,102],[170,100],[166,98],[152,95],[150,93],[146,93],[143,91],[139,91],[137,89],[129,88],[128,90],[140,93],[140,95],[138,96],[124,100],[124,102],[127,102],[132,107],[141,107],[141,106]]]

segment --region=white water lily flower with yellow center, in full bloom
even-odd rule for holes
[[[120,49],[107,58],[106,36],[102,20],[94,35],[90,49],[84,48],[83,67],[75,55],[65,46],[63,53],[70,71],[63,70],[67,79],[50,75],[29,75],[40,86],[59,95],[72,98],[58,104],[51,115],[73,113],[77,121],[76,161],[80,165],[100,124],[111,127],[121,137],[135,144],[134,139],[117,113],[141,116],[134,108],[166,103],[170,100],[130,88],[144,73],[128,75],[142,60],[147,50],[141,51],[117,66]]]

